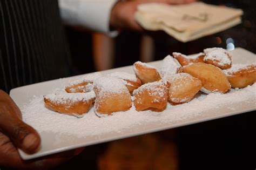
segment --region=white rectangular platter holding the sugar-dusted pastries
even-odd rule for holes
[[[237,48],[230,51],[232,55],[233,64],[235,63],[255,63],[256,55],[250,51]],[[153,66],[159,68],[161,61],[149,63]],[[104,74],[125,71],[133,72],[132,66],[120,67],[117,69],[111,69],[102,71]],[[81,75],[80,75],[81,76]],[[35,99],[42,100],[43,95],[50,94],[55,89],[62,89],[70,81],[76,80],[80,76],[62,78],[57,80],[45,81],[42,83],[32,84],[28,86],[18,87],[12,89],[10,96],[14,99],[15,103],[20,107],[24,108],[26,105],[31,105],[31,102]],[[99,144],[100,142],[112,141],[122,138],[128,138],[140,134],[157,132],[161,130],[167,130],[174,127],[180,127],[195,123],[200,123],[207,120],[213,120],[218,118],[223,118],[239,113],[245,113],[255,110],[255,85],[251,86],[254,88],[253,94],[250,96],[243,97],[239,103],[228,103],[227,98],[236,97],[239,93],[228,94],[229,96],[220,96],[219,103],[224,103],[223,105],[214,105],[209,107],[209,109],[204,108],[204,110],[197,109],[196,101],[190,101],[188,104],[183,104],[184,106],[173,106],[173,110],[170,113],[164,112],[163,114],[153,114],[153,113],[134,113],[134,117],[131,117],[133,113],[117,113],[110,117],[98,118],[94,112],[93,108],[85,115],[83,118],[75,118],[70,115],[63,115],[56,112],[44,110],[43,100],[42,109],[35,111],[35,115],[27,115],[23,112],[23,119],[26,123],[35,127],[36,130],[41,135],[42,146],[41,149],[35,154],[26,154],[19,150],[19,153],[24,160],[34,159],[42,157],[45,155],[58,153],[62,151],[67,151],[69,149],[74,149],[78,147]],[[233,90],[235,91],[235,90]],[[239,91],[239,90],[237,90]],[[253,91],[253,90],[251,90]],[[218,94],[225,95],[225,94]],[[232,96],[233,95],[233,96]],[[237,96],[239,97],[239,96]],[[223,100],[223,102],[222,102]],[[226,104],[225,104],[226,103]],[[218,104],[218,103],[217,103]],[[191,107],[191,108],[190,108]],[[186,108],[186,110],[184,110]],[[183,109],[183,110],[182,110]],[[191,111],[194,109],[194,111]],[[39,114],[37,114],[39,112]],[[47,112],[47,113],[46,113]],[[131,111],[130,111],[131,112]],[[177,113],[180,112],[180,113]],[[186,114],[187,112],[187,114]],[[193,114],[190,115],[190,112]],[[37,115],[36,115],[37,114]],[[123,115],[122,115],[123,114]],[[48,118],[49,115],[49,118]],[[130,117],[129,117],[130,115]],[[145,115],[145,120],[144,116]],[[173,115],[173,116],[171,116]],[[36,118],[30,119],[30,117],[37,116]],[[41,117],[42,116],[42,117]],[[52,118],[53,119],[52,119]],[[58,119],[58,118],[59,119]],[[164,119],[166,117],[166,120]],[[58,121],[56,121],[56,118]],[[126,120],[124,120],[124,119]],[[138,121],[140,119],[140,121]],[[147,120],[149,119],[149,120]],[[63,123],[62,120],[70,120],[70,123]],[[134,120],[134,123],[130,122]],[[91,121],[91,122],[90,122]],[[109,121],[109,122],[108,122]],[[83,124],[81,128],[81,124]],[[98,124],[97,124],[98,122]],[[137,123],[138,122],[138,123]],[[69,126],[76,126],[77,132],[72,132],[69,130]],[[98,127],[95,127],[98,126]],[[87,128],[87,130],[86,130]],[[81,132],[82,131],[82,132]],[[83,135],[84,132],[84,135]]]

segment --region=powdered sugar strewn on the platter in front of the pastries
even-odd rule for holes
[[[167,105],[163,112],[137,112],[132,106],[129,111],[116,112],[113,115],[99,118],[93,108],[83,118],[60,114],[44,107],[43,96],[35,96],[22,108],[23,120],[40,132],[70,134],[78,138],[100,135],[109,132],[122,132],[127,128],[146,125],[148,123],[174,124],[179,121],[209,114],[217,108],[235,110],[241,102],[256,103],[256,84],[244,89],[232,89],[226,94],[200,93],[188,103],[181,105]],[[237,108],[238,108],[237,107]]]

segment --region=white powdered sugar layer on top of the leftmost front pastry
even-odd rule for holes
[[[48,94],[44,96],[45,99],[51,100],[57,104],[75,103],[78,101],[88,101],[95,98],[95,92],[87,93],[66,93],[58,92],[56,94]]]

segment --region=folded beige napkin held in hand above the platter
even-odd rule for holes
[[[242,10],[203,2],[184,5],[148,3],[138,6],[136,21],[146,30],[163,30],[188,42],[241,23]]]

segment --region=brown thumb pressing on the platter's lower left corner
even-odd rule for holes
[[[5,123],[0,121],[0,129],[16,147],[28,154],[35,153],[41,144],[36,130],[17,117],[7,119]]]

